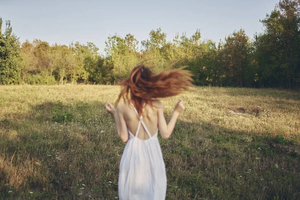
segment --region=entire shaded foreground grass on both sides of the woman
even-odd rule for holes
[[[103,104],[48,101],[9,117],[0,121],[1,196],[117,196],[124,144]],[[171,138],[159,141],[167,199],[300,198],[300,147],[280,135],[179,120]]]

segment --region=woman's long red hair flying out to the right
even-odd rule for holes
[[[141,114],[143,103],[152,104],[153,98],[174,96],[187,90],[192,84],[192,73],[183,68],[166,68],[160,73],[153,73],[144,65],[134,67],[129,77],[120,82],[122,88],[115,105],[123,98],[124,102],[131,102]]]

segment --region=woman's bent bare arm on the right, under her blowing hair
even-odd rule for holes
[[[170,121],[168,122],[168,124],[166,124],[166,121],[165,121],[165,118],[163,115],[162,103],[159,101],[159,106],[157,108],[158,130],[163,139],[168,139],[169,136],[172,134],[177,117],[183,109],[184,109],[183,101],[179,100],[175,105],[175,108],[174,108],[174,111],[173,111]]]

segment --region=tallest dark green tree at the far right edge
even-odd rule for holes
[[[261,20],[256,35],[258,76],[268,85],[296,86],[300,82],[300,1],[280,0]]]

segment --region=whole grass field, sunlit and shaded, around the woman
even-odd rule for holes
[[[115,199],[119,87],[0,86],[0,199]],[[166,199],[300,199],[300,93],[192,87],[161,99]]]

